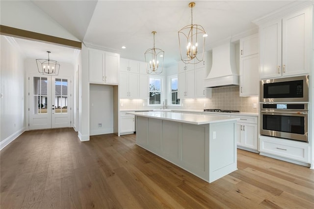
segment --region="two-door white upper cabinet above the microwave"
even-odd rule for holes
[[[313,8],[308,7],[260,26],[260,77],[310,72]]]

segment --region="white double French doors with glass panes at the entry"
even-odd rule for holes
[[[58,76],[28,77],[29,130],[71,126],[71,80]]]

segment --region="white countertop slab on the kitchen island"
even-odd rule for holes
[[[127,112],[142,117],[157,118],[162,120],[176,121],[188,124],[203,125],[210,123],[220,123],[227,121],[235,121],[239,118],[230,118],[225,116],[201,115],[201,114],[188,114],[180,112],[167,112],[167,111],[150,111],[150,112]]]

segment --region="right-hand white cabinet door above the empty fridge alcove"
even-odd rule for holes
[[[105,83],[118,84],[119,55],[105,52]]]

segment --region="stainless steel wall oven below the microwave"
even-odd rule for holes
[[[261,134],[308,142],[308,104],[261,104]]]

